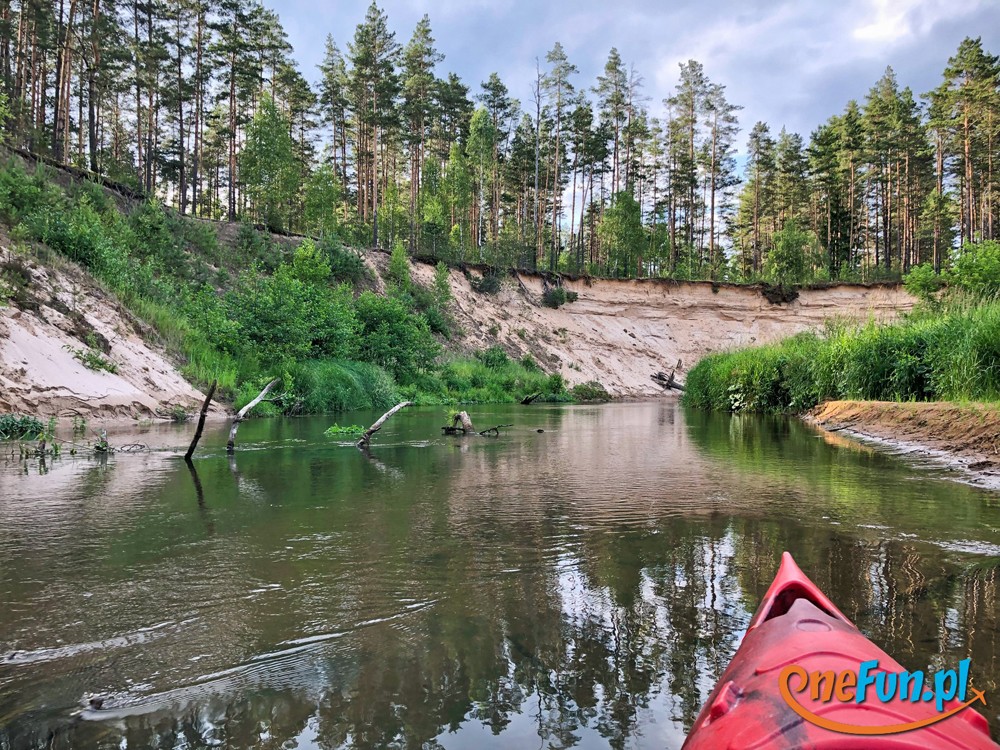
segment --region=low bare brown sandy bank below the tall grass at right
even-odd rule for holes
[[[804,419],[829,432],[930,459],[957,472],[961,481],[1000,489],[1000,405],[827,401]]]

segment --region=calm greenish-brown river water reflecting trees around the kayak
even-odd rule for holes
[[[783,418],[470,412],[514,426],[0,458],[0,748],[677,748],[782,550],[996,735],[1000,496]]]

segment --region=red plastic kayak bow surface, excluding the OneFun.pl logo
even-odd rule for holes
[[[806,689],[793,696],[805,712],[840,727],[887,727],[933,722],[896,734],[858,735],[807,721],[781,695],[779,677],[797,665],[806,673],[835,676],[857,673],[862,662],[877,660],[879,671],[903,672],[891,656],[868,640],[785,552],[781,567],[758,608],[747,633],[715,690],[698,715],[684,750],[1000,750],[990,739],[989,725],[972,708],[936,721],[934,702],[894,697],[880,702],[831,699],[831,693]],[[794,677],[792,678],[795,679]],[[792,689],[800,685],[796,681]],[[846,694],[845,694],[846,695]],[[822,700],[827,698],[827,700]],[[866,731],[866,730],[855,730]]]

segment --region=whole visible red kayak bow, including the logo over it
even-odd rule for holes
[[[906,672],[786,552],[683,750],[1000,750],[968,664]]]

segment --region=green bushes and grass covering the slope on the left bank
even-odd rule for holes
[[[230,245],[210,222],[177,216],[153,202],[123,211],[99,185],[66,188],[39,168],[0,166],[0,220],[15,242],[12,265],[50,251],[87,268],[182,362],[182,372],[237,407],[279,376],[280,398],[259,412],[316,414],[416,403],[503,403],[541,393],[571,400],[559,375],[497,347],[474,359],[441,361],[439,338],[454,323],[447,268],[428,289],[409,278],[402,247],[393,253],[385,296],[356,293],[368,274],[336,237],[280,244],[243,226]],[[19,255],[18,255],[19,254]],[[10,264],[9,264],[10,265]],[[0,269],[14,281],[24,268]],[[36,308],[25,282],[15,303]],[[12,282],[13,283],[13,282]],[[24,300],[14,299],[16,291]]]

